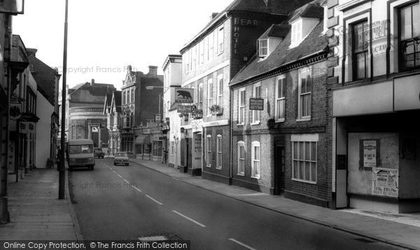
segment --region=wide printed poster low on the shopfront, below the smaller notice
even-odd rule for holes
[[[372,168],[372,195],[398,197],[398,169]]]

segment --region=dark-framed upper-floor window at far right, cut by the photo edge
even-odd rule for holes
[[[402,70],[420,66],[419,3],[400,8],[400,67]]]

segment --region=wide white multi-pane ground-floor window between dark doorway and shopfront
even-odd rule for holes
[[[292,179],[316,183],[318,134],[292,135]]]

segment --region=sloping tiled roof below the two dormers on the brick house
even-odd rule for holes
[[[326,53],[328,41],[325,39],[325,36],[321,35],[322,32],[323,22],[319,22],[299,46],[290,49],[291,32],[289,32],[265,60],[260,60],[260,58],[254,56],[253,60],[242,68],[232,81],[230,81],[230,85],[248,81],[257,76],[262,76],[270,71],[280,69],[288,64],[309,57],[310,55],[322,52]]]

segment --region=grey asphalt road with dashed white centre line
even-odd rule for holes
[[[89,240],[176,235],[191,249],[397,249],[256,207],[130,163],[96,159],[69,172],[71,200]]]

